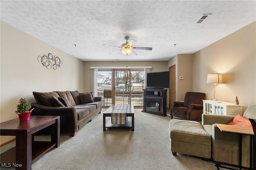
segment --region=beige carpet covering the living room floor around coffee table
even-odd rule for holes
[[[102,109],[102,112],[106,109]],[[217,170],[213,160],[170,151],[170,116],[162,117],[135,109],[134,131],[103,131],[102,113],[84,125],[75,137],[61,134],[53,148],[32,164],[33,170]],[[109,119],[110,117],[107,117]],[[48,139],[40,135],[35,140]],[[1,153],[15,142],[1,147]],[[1,169],[12,169],[3,168]],[[222,169],[222,168],[220,168]]]

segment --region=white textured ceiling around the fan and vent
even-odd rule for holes
[[[196,23],[202,14],[211,16]],[[256,1],[1,0],[1,20],[83,61],[126,61],[121,51],[109,55],[118,47],[102,46],[121,46],[126,35],[153,48],[128,61],[168,61],[255,21]]]

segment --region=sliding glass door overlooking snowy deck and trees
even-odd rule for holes
[[[144,69],[98,69],[98,96],[103,106],[111,104],[143,105]]]

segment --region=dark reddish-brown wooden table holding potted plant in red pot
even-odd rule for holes
[[[51,127],[51,141],[34,141],[34,133]],[[13,119],[0,123],[0,133],[16,136],[16,147],[1,154],[1,165],[31,170],[32,162],[54,146],[60,146],[60,116],[30,116],[29,121]]]

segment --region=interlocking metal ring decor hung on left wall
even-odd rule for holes
[[[43,66],[45,66],[47,69],[53,68],[54,70],[57,70],[58,67],[62,66],[62,61],[60,58],[56,55],[52,55],[51,53],[48,54],[48,57],[46,54],[43,56],[38,56],[37,60],[39,63],[42,63]]]

